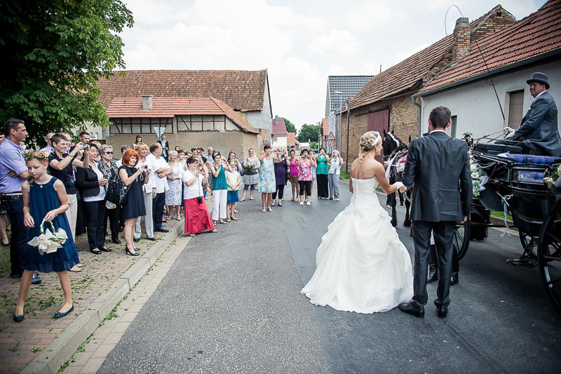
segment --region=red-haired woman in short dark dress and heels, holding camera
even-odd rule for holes
[[[138,153],[133,149],[127,149],[123,154],[123,166],[119,168],[119,178],[123,185],[128,187],[128,196],[123,206],[123,220],[125,221],[125,253],[127,255],[137,256],[133,235],[135,234],[136,221],[139,217],[146,215],[146,207],[144,206],[144,193],[142,186],[149,181],[151,169],[143,166],[135,168],[138,163]]]

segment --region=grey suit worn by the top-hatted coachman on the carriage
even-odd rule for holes
[[[561,137],[557,126],[557,105],[546,91],[532,102],[513,139],[523,136],[528,147],[535,148],[535,145],[550,156],[561,157]]]

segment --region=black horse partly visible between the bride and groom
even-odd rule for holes
[[[381,146],[384,149],[384,161],[388,163],[388,165],[391,164],[391,166],[388,166],[390,168],[390,178],[388,182],[390,182],[390,185],[392,185],[398,180],[401,180],[401,177],[403,176],[403,172],[396,171],[396,164],[398,163],[399,159],[407,154],[407,145],[405,145],[403,141],[396,135],[393,135],[393,129],[388,133],[386,133],[386,130],[384,129],[384,138],[382,138],[381,140]],[[409,218],[409,209],[411,207],[411,192],[407,190],[406,194],[408,199],[405,199],[405,220],[403,221],[403,226],[410,227],[411,220]],[[388,195],[388,201],[391,205],[391,225],[393,227],[396,227],[398,225],[396,194]]]

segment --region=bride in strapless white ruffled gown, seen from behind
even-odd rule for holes
[[[413,296],[411,258],[375,189],[386,194],[403,188],[388,184],[380,154],[381,137],[360,137],[359,157],[351,166],[351,203],[327,227],[316,253],[316,272],[301,293],[315,305],[357,313],[387,312]]]

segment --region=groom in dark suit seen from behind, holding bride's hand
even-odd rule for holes
[[[450,109],[435,107],[428,116],[424,138],[411,142],[403,173],[403,184],[414,187],[411,220],[415,244],[413,300],[399,305],[402,312],[424,317],[427,258],[434,232],[439,272],[436,289],[436,310],[445,318],[450,304],[452,272],[452,240],[456,222],[465,222],[473,191],[467,143],[450,138]]]

